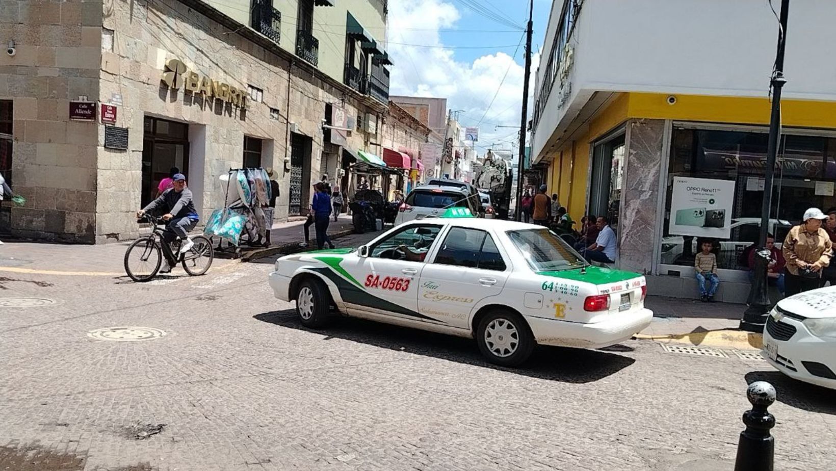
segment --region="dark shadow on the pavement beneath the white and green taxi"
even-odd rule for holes
[[[328,335],[324,340],[331,338],[351,340],[389,350],[408,351],[416,355],[432,356],[551,381],[577,384],[598,381],[635,363],[635,360],[630,357],[614,355],[606,351],[538,346],[528,362],[517,369],[512,369],[488,363],[479,353],[475,341],[453,335],[436,334],[349,317],[335,319],[327,329],[311,330],[299,323],[293,310],[273,311],[252,317],[288,329]],[[624,349],[615,351],[632,351],[626,346],[609,348],[614,347]]]

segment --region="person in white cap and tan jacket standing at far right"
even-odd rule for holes
[[[818,207],[804,212],[804,222],[789,230],[781,250],[787,266],[784,268],[784,289],[787,297],[822,284],[822,269],[830,264],[833,243],[822,228],[828,217]]]

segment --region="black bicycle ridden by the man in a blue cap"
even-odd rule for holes
[[[215,253],[212,250],[212,241],[202,235],[191,236],[194,245],[186,252],[180,253],[180,243],[176,247],[166,243],[165,233],[171,233],[165,226],[162,218],[145,215],[138,223],[148,222],[151,224],[150,235],[140,237],[130,244],[125,251],[125,273],[130,279],[138,282],[145,282],[153,279],[160,271],[163,256],[166,257],[169,265],[173,268],[176,264],[182,264],[183,269],[191,276],[205,274],[212,265]],[[134,263],[132,263],[134,262]],[[136,265],[134,267],[134,265]],[[133,267],[133,268],[132,268]]]

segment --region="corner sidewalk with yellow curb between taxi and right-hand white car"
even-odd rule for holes
[[[703,303],[693,299],[648,296],[653,322],[636,338],[691,346],[759,350],[761,334],[739,330],[746,305]]]

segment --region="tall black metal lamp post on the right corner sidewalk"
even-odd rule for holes
[[[775,174],[778,141],[781,138],[781,90],[787,83],[783,76],[784,49],[787,46],[787,18],[789,14],[789,0],[781,0],[781,18],[778,28],[778,47],[775,56],[775,71],[772,74],[772,116],[769,120],[769,141],[767,144],[767,166],[763,172],[763,204],[761,205],[761,233],[757,239],[757,253],[752,286],[747,298],[747,310],[740,321],[740,329],[750,332],[762,332],[767,322],[767,313],[772,305],[767,291],[768,258],[772,256],[767,245],[769,233],[769,209],[772,207],[772,177]]]

